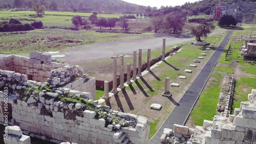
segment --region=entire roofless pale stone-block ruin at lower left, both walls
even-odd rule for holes
[[[79,66],[51,62],[36,52],[0,60],[0,122],[55,143],[147,143],[146,117],[94,100],[95,78]]]

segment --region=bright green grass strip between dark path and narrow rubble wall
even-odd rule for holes
[[[194,108],[190,115],[194,123],[198,126],[203,126],[204,119],[212,121],[216,114],[216,107],[219,101],[219,93],[221,91],[219,81],[222,78],[221,74],[212,73],[210,78],[217,79],[217,81],[211,81],[209,88],[204,90],[199,97],[199,106]],[[210,103],[209,103],[210,102]]]

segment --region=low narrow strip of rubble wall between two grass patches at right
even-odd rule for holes
[[[221,116],[228,117],[231,105],[233,102],[233,90],[235,79],[231,76],[226,76],[223,81],[223,86],[220,92],[220,98],[217,105],[217,113]]]

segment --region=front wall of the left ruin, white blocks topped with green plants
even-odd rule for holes
[[[75,143],[147,143],[146,117],[97,105],[88,92],[27,80],[27,75],[14,71],[0,70],[0,74],[0,89],[8,89],[0,91],[1,122]],[[3,113],[7,98],[8,119]]]

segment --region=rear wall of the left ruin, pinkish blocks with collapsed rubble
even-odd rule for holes
[[[48,82],[53,87],[90,92],[90,99],[96,100],[95,78],[84,75],[77,65],[51,60],[51,55],[38,52],[30,52],[30,58],[12,55],[0,58],[0,69],[27,75],[29,80]]]

